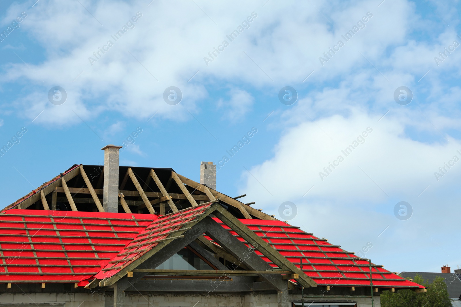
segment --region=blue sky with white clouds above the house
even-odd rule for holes
[[[123,145],[196,181],[213,161],[218,191],[392,272],[453,270],[460,8],[2,1],[3,206]]]

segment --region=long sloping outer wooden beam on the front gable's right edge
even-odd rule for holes
[[[296,274],[299,274],[299,278],[297,279],[297,281],[303,287],[317,286],[317,284],[312,280],[312,278],[307,276],[304,272],[302,272],[297,266],[295,266],[284,256],[280,255],[280,253],[276,249],[272,248],[272,246],[269,245],[269,243],[264,241],[254,232],[252,232],[247,226],[245,226],[241,221],[236,219],[226,209],[224,209],[221,206],[216,206],[215,208],[216,211],[214,211],[213,214],[217,218],[222,220],[227,226],[231,227],[233,231],[235,231],[240,237],[249,242],[251,245],[253,245],[255,249],[258,249],[263,255],[269,258],[272,261],[272,263],[280,267],[282,270],[290,270]]]

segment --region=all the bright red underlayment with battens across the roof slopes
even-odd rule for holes
[[[154,248],[167,234],[188,228],[186,223],[193,222],[208,207],[199,205],[164,216],[6,210],[0,214],[0,283],[84,286],[94,278],[110,277]],[[303,271],[319,286],[370,284],[368,261],[339,246],[282,221],[240,221],[296,266],[303,258]],[[276,267],[259,251],[254,252]],[[372,268],[372,279],[375,287],[424,288],[379,266]]]

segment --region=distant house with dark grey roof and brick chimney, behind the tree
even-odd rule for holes
[[[451,304],[453,307],[461,307],[461,279],[456,271],[458,270],[455,270],[455,273],[451,273],[449,266],[442,266],[441,273],[402,272],[400,273],[400,276],[403,278],[409,277],[414,279],[416,275],[421,275],[424,281],[428,281],[429,284],[431,284],[437,277],[444,278],[445,284],[447,285],[449,298],[452,301]]]

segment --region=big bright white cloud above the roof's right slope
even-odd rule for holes
[[[461,143],[449,136],[448,141],[441,136],[440,142],[415,141],[406,135],[408,125],[401,116],[380,117],[352,109],[346,117],[333,115],[315,119],[315,123],[297,123],[278,141],[271,159],[249,169],[251,174],[242,174],[241,194],[248,194],[259,203],[258,208],[282,220],[279,205],[295,203],[299,212],[294,225],[304,225],[305,230],[350,251],[358,252],[372,242],[374,247],[366,257],[391,266],[386,268],[392,271],[439,266],[427,262],[426,256],[412,257],[415,251],[431,255],[431,261],[458,261],[449,241],[461,233],[447,223],[447,212],[461,211],[456,200],[461,196],[461,161],[445,168],[438,181],[434,172],[440,172],[439,167],[453,156],[461,158],[457,152],[461,152]],[[343,151],[354,145],[367,127],[367,136],[359,138],[357,147],[346,156]],[[431,125],[421,127],[433,133]],[[335,162],[338,156],[344,160]],[[339,165],[332,168],[330,162]],[[330,168],[328,173],[324,167]],[[319,172],[328,175],[321,180]],[[394,216],[394,206],[400,201],[413,207],[409,220]]]

